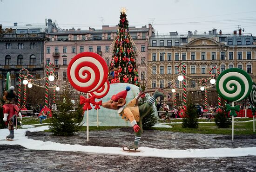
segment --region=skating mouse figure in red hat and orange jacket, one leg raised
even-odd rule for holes
[[[135,106],[137,96],[126,105],[126,96],[127,92],[131,88],[129,86],[126,87],[126,90],[123,90],[116,95],[113,95],[108,102],[102,103],[104,108],[109,108],[113,110],[117,110],[117,113],[121,116],[122,119],[126,121],[130,121],[134,132],[135,132],[135,140],[131,146],[127,148],[130,149],[138,149],[139,141],[141,140],[142,130],[142,118],[148,114],[152,105],[155,103],[155,100],[159,96],[165,96],[161,92],[155,90],[155,93],[152,97],[148,99],[148,102],[142,104],[141,106]]]

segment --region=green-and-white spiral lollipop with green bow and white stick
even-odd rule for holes
[[[232,115],[232,140],[234,140],[234,115],[239,112],[240,106],[234,107],[234,102],[239,102],[249,96],[252,89],[251,77],[242,69],[231,68],[224,70],[218,77],[216,89],[220,96],[232,102],[232,107],[227,104],[226,111]]]

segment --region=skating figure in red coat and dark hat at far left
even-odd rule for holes
[[[4,92],[3,99],[5,100],[5,104],[3,105],[4,110],[4,118],[3,121],[6,122],[6,126],[9,124],[9,131],[10,134],[7,136],[8,139],[14,138],[14,132],[13,132],[13,123],[16,119],[16,114],[19,111],[19,107],[15,104],[13,104],[12,100],[16,96],[16,92],[13,91],[14,87],[11,86],[10,89]],[[22,120],[22,116],[19,113],[20,120]]]

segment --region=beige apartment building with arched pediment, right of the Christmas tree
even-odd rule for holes
[[[216,92],[215,86],[209,83],[210,68],[217,67],[220,72],[240,68],[256,81],[256,38],[242,34],[241,29],[232,34],[217,33],[213,29],[207,34],[192,34],[189,31],[187,35],[170,32],[167,36],[152,36],[148,46],[147,87],[164,88],[168,83],[174,83],[176,99],[182,103],[182,83],[177,79],[180,63],[186,66],[187,93],[192,93],[191,96],[198,102],[204,102],[201,79],[207,79],[209,92]],[[174,100],[171,89],[168,92]]]

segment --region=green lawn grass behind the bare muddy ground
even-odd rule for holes
[[[255,134],[253,133],[253,122],[252,118],[236,118],[235,121],[249,121],[249,122],[241,122],[234,123],[234,134],[235,135],[246,135],[246,134]],[[206,122],[207,119],[198,119],[198,121]],[[181,132],[181,133],[197,133],[197,134],[231,134],[231,127],[229,128],[219,128],[215,125],[215,122],[211,123],[199,123],[198,128],[183,128],[182,124],[175,124],[174,122],[182,122],[182,119],[172,119],[171,120],[172,128],[162,128],[162,127],[152,127],[152,130],[160,130],[160,131],[171,131],[171,132]],[[35,118],[23,118],[23,125],[33,125],[39,124],[40,120]],[[43,120],[43,123],[49,123],[49,119]],[[44,124],[42,124],[44,125]],[[166,124],[169,125],[169,124]],[[115,128],[123,128],[123,127],[115,127],[115,126],[90,126],[90,131],[97,130],[108,130]],[[49,130],[46,130],[49,131]],[[81,131],[86,131],[86,126],[81,127]]]

